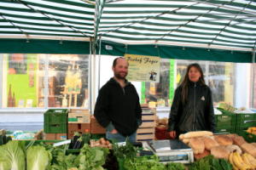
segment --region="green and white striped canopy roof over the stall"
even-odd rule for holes
[[[218,48],[252,54],[256,44],[256,3],[253,0],[1,0],[0,43],[15,46],[15,42],[33,40],[78,44],[93,41],[125,47]]]

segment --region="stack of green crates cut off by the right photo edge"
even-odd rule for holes
[[[239,113],[236,115],[236,133],[242,133],[248,127],[256,127],[256,113]]]

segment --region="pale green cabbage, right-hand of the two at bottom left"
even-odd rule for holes
[[[51,154],[44,146],[31,146],[26,150],[26,169],[44,170],[50,165]]]

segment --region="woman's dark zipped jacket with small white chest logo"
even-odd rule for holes
[[[207,85],[189,82],[188,98],[183,105],[182,87],[175,90],[169,116],[168,131],[187,133],[207,130],[214,133],[215,121],[212,105],[212,92]]]

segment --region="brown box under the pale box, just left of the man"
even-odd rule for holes
[[[73,134],[78,133],[90,133],[90,123],[68,123],[68,139],[73,139]]]

